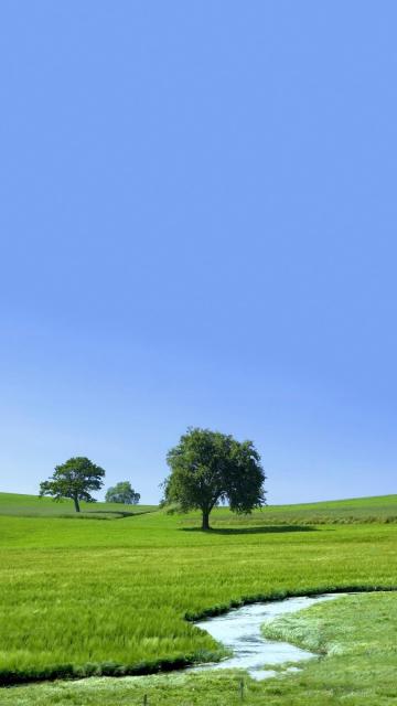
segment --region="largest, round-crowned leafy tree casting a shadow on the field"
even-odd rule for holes
[[[190,428],[167,462],[171,473],[164,481],[165,503],[178,503],[182,512],[201,510],[203,530],[210,530],[210,513],[219,502],[228,502],[237,513],[265,503],[266,475],[251,441]]]

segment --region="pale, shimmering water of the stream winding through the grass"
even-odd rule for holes
[[[268,603],[251,603],[232,609],[223,616],[201,620],[195,624],[208,632],[217,642],[228,648],[233,655],[222,662],[203,664],[197,670],[247,670],[250,676],[262,680],[275,676],[275,671],[264,665],[278,665],[285,662],[300,662],[315,656],[311,652],[296,648],[288,642],[267,640],[260,632],[260,625],[279,616],[298,612],[319,601],[339,598],[342,593],[326,593],[315,597],[286,598]],[[290,667],[290,670],[294,667]]]

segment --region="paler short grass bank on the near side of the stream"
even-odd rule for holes
[[[397,703],[397,596],[358,595],[319,603],[267,624],[265,634],[325,655],[301,671],[257,683],[240,672],[44,683],[3,692],[4,706],[387,706]]]

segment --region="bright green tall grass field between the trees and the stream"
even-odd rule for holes
[[[225,513],[205,534],[191,526],[195,516],[163,512],[117,522],[0,516],[2,683],[219,656],[186,617],[397,585],[393,525],[226,526]]]

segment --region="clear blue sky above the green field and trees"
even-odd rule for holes
[[[0,490],[159,499],[187,426],[270,503],[397,492],[397,6],[2,0]]]

